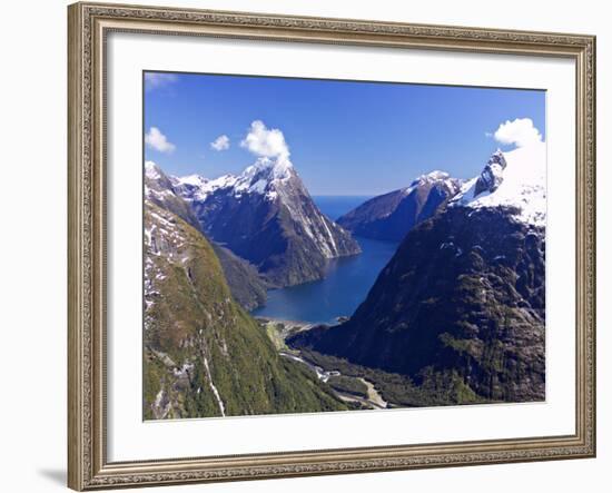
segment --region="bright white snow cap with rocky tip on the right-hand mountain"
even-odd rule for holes
[[[535,226],[546,221],[546,145],[497,150],[480,176],[466,181],[450,207],[507,209]]]

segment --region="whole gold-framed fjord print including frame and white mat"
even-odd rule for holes
[[[595,40],[76,3],[69,486],[595,454]]]

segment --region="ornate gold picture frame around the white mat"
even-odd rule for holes
[[[595,38],[76,3],[68,8],[68,485],[75,490],[593,457]],[[109,31],[565,57],[576,66],[575,433],[433,445],[109,463],[106,456],[105,37]]]

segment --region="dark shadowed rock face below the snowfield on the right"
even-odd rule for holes
[[[545,392],[545,235],[499,208],[447,208],[411,230],[353,317],[290,343],[492,401]]]

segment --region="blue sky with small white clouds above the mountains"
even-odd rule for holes
[[[261,120],[312,195],[368,196],[434,169],[470,178],[496,148],[545,139],[545,92],[148,72],[144,120],[145,158],[170,175],[240,172]]]

